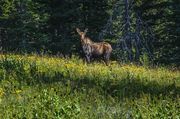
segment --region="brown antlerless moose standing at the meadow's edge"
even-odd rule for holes
[[[86,28],[82,32],[79,28],[76,28],[77,33],[80,35],[81,45],[85,54],[86,60],[90,63],[93,56],[102,57],[106,65],[108,66],[109,58],[112,52],[112,47],[107,42],[93,42],[86,36],[88,29]]]

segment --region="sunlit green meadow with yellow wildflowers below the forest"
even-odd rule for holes
[[[180,72],[77,57],[0,56],[1,119],[179,119]]]

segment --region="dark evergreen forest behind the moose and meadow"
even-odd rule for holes
[[[128,17],[126,2],[0,0],[0,51],[81,55],[79,36],[75,31],[78,27],[81,30],[88,28],[87,35],[95,42],[102,39],[109,42],[114,49],[114,59],[124,60],[122,57],[127,57],[118,45],[121,44],[120,37],[140,33],[141,37],[144,36],[142,42],[148,40],[143,43],[148,46],[144,49],[151,52],[153,62],[180,65],[180,1],[128,0]],[[122,28],[124,24],[127,27],[127,18],[130,26],[125,33]],[[138,18],[143,21],[143,26],[138,27]],[[132,34],[128,34],[129,31]],[[131,50],[132,55],[137,54],[136,45],[134,48],[132,45]],[[147,53],[142,48],[138,60],[146,57]]]

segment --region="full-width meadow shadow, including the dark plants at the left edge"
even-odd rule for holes
[[[30,65],[30,73],[27,73],[24,69],[26,64]],[[158,79],[157,81],[150,81],[146,79],[136,79],[135,77],[127,77],[127,79],[119,80],[102,80],[97,78],[91,79],[85,76],[82,79],[74,78],[74,80],[72,80],[72,78],[68,78],[68,76],[64,76],[60,72],[38,72],[36,61],[27,63],[26,60],[17,60],[16,58],[8,59],[6,57],[1,60],[0,68],[3,68],[6,72],[6,74],[2,73],[3,75],[8,76],[14,75],[15,73],[18,81],[26,82],[28,85],[53,84],[57,82],[66,85],[67,82],[70,82],[72,92],[74,89],[77,91],[82,91],[82,89],[95,89],[104,96],[111,95],[120,99],[138,98],[143,94],[157,97],[169,96],[171,98],[177,98],[180,95],[180,86],[176,84],[177,82],[173,82],[173,79],[170,81],[171,83],[165,81],[160,83]]]

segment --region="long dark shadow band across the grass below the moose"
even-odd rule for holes
[[[142,94],[147,94],[155,97],[170,97],[178,98],[180,95],[180,87],[175,82],[159,83],[157,81],[147,81],[140,79],[120,79],[120,80],[98,80],[88,77],[83,79],[71,80],[64,78],[61,73],[55,73],[54,76],[49,76],[45,73],[38,73],[35,76],[34,83],[52,84],[61,82],[67,85],[70,82],[71,90],[81,91],[82,89],[96,89],[104,96],[111,95],[113,97],[123,98],[139,98]]]

